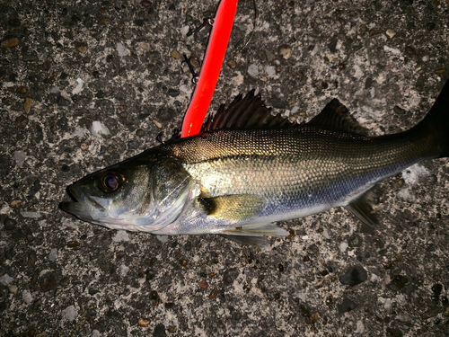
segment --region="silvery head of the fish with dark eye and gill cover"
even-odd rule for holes
[[[197,194],[195,185],[172,160],[125,161],[70,185],[74,201],[60,207],[92,224],[151,233],[180,217]]]

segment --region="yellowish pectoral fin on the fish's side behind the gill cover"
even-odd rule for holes
[[[255,217],[265,206],[265,200],[252,194],[233,194],[215,198],[199,198],[207,216],[230,220]]]

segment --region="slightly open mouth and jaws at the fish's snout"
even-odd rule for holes
[[[74,201],[61,202],[59,207],[62,210],[88,222],[98,222],[104,216],[106,209],[96,200],[85,195],[78,186],[69,186],[67,193]]]

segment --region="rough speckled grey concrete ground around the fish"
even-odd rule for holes
[[[257,88],[291,120],[336,97],[372,135],[409,129],[448,78],[448,3],[256,0],[255,20],[242,0],[211,111]],[[335,208],[280,223],[294,235],[268,251],[58,208],[70,183],[180,128],[182,55],[200,60],[209,28],[187,33],[216,4],[0,4],[0,335],[449,335],[447,159],[383,182],[374,233]]]

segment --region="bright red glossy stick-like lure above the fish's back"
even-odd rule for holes
[[[218,6],[198,84],[182,124],[181,137],[195,136],[201,130],[225,59],[237,3],[238,0],[222,0]]]

